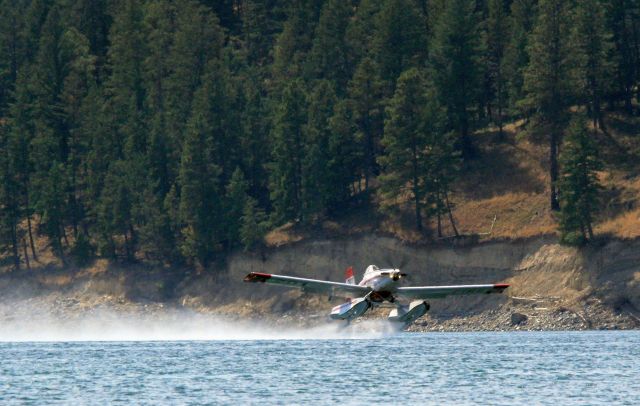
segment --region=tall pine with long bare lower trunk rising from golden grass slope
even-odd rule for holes
[[[530,130],[548,135],[550,203],[552,210],[559,210],[558,147],[573,87],[567,25],[569,5],[562,0],[541,0],[538,12],[528,48],[530,62],[524,76],[526,96],[520,105],[531,117]]]

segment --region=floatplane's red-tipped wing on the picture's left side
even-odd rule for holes
[[[352,296],[364,296],[371,292],[366,286],[350,285],[348,283],[321,281],[318,279],[298,278],[294,276],[273,275],[268,273],[251,272],[244,277],[245,282],[261,282],[273,285],[282,285],[292,288],[300,288],[305,292],[326,293],[329,296],[347,294]]]

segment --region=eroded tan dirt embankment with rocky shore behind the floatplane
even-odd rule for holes
[[[121,269],[105,261],[80,270],[23,271],[0,276],[0,323],[34,310],[73,319],[108,308],[135,314],[172,309],[277,323],[324,322],[339,299],[242,283],[248,272],[341,280],[353,266],[397,267],[412,285],[506,282],[505,295],[432,301],[413,330],[593,329],[640,327],[640,241],[584,249],[552,238],[473,247],[411,246],[376,236],[310,241],[261,255],[237,253],[216,271]],[[388,310],[371,316],[385,317]],[[31,316],[30,316],[31,315]]]

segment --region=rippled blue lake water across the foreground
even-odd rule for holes
[[[1,342],[0,404],[640,404],[640,331]]]

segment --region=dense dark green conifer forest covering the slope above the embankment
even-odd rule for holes
[[[585,244],[614,113],[638,0],[0,0],[0,251],[206,268],[398,197],[457,235],[476,134],[513,123]]]

